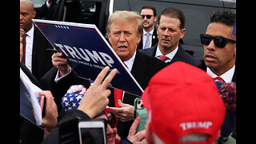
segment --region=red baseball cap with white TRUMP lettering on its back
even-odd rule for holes
[[[158,71],[142,94],[142,102],[151,130],[166,143],[178,143],[192,133],[209,134],[200,143],[212,143],[225,118],[225,105],[214,79],[185,62]]]

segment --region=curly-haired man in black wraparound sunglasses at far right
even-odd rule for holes
[[[219,10],[210,17],[206,34],[200,34],[204,59],[198,67],[222,82],[236,82],[236,37],[232,34],[236,14]]]

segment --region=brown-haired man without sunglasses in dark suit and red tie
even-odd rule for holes
[[[159,58],[170,64],[172,62],[182,61],[193,66],[198,66],[200,62],[187,54],[179,44],[183,38],[186,29],[185,16],[181,10],[167,8],[162,11],[158,18],[158,44],[150,49],[140,50],[143,54]]]

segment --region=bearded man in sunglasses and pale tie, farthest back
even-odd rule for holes
[[[157,29],[154,26],[154,22],[157,21],[158,17],[154,6],[143,6],[141,16],[143,19],[143,34],[141,42],[138,43],[137,50],[150,48],[158,43]]]

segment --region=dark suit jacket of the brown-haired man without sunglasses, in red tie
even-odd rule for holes
[[[158,48],[158,44],[149,49],[143,49],[139,51],[142,52],[142,54],[146,54],[151,57],[154,57],[157,51],[157,48]],[[190,54],[187,54],[181,44],[178,44],[177,53],[174,55],[174,58],[170,62],[167,62],[167,64],[178,62],[178,61],[186,62],[192,66],[198,66],[201,63],[196,58],[193,58]]]

